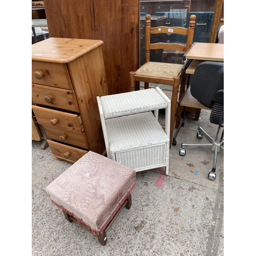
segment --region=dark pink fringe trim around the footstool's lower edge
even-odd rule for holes
[[[123,198],[120,200],[120,202],[117,204],[117,206],[115,207],[115,209],[111,212],[111,214],[109,215],[109,217],[105,220],[105,222],[102,224],[102,226],[100,227],[99,230],[94,229],[92,226],[90,226],[89,224],[87,224],[86,222],[84,222],[81,218],[79,218],[78,216],[76,216],[75,214],[73,214],[73,212],[69,211],[68,209],[64,208],[63,206],[55,203],[52,200],[52,203],[55,204],[56,206],[58,206],[60,209],[62,209],[63,211],[65,211],[68,215],[73,216],[79,223],[81,223],[82,225],[84,225],[86,228],[88,228],[89,230],[92,231],[92,233],[96,236],[99,234],[102,234],[104,229],[106,228],[106,226],[108,226],[108,224],[110,223],[110,221],[113,219],[113,217],[115,216],[115,214],[117,213],[117,211],[119,210],[119,208],[122,206],[122,204],[124,203],[124,201],[127,199],[127,197],[130,196],[132,190],[135,188],[136,186],[136,181],[132,184],[132,186],[129,188],[129,190],[125,193],[125,195],[123,196]]]

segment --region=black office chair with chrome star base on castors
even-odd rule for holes
[[[197,138],[203,136],[210,142],[207,144],[181,144],[180,156],[185,156],[184,146],[210,146],[214,151],[214,163],[208,174],[209,180],[216,178],[217,154],[224,151],[224,62],[205,61],[200,63],[193,75],[191,95],[201,104],[211,109],[210,122],[219,125],[215,139],[212,139],[200,126]]]

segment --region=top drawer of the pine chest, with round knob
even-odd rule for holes
[[[32,61],[32,83],[73,89],[68,67],[62,63]]]

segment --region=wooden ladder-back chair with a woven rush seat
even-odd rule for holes
[[[139,90],[135,88],[135,81],[144,82],[144,89],[148,89],[148,83],[159,83],[173,86],[172,102],[171,102],[171,116],[170,116],[170,141],[172,141],[174,121],[177,108],[178,91],[180,81],[182,79],[182,86],[185,90],[186,74],[181,72],[183,64],[177,63],[163,63],[150,61],[150,50],[164,49],[176,50],[186,52],[192,45],[195,19],[196,15],[190,16],[188,28],[182,27],[155,27],[151,28],[151,15],[147,14],[145,22],[145,63],[137,71],[130,72],[130,91]],[[166,42],[153,42],[151,43],[152,34],[180,34],[186,35],[186,44],[166,43]],[[163,37],[164,38],[164,37]],[[180,95],[181,96],[181,95]],[[171,145],[172,143],[170,143]]]

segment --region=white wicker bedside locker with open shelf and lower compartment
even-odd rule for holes
[[[136,172],[165,167],[167,175],[170,99],[161,89],[97,97],[97,102],[108,158]],[[159,109],[165,109],[165,129]]]

